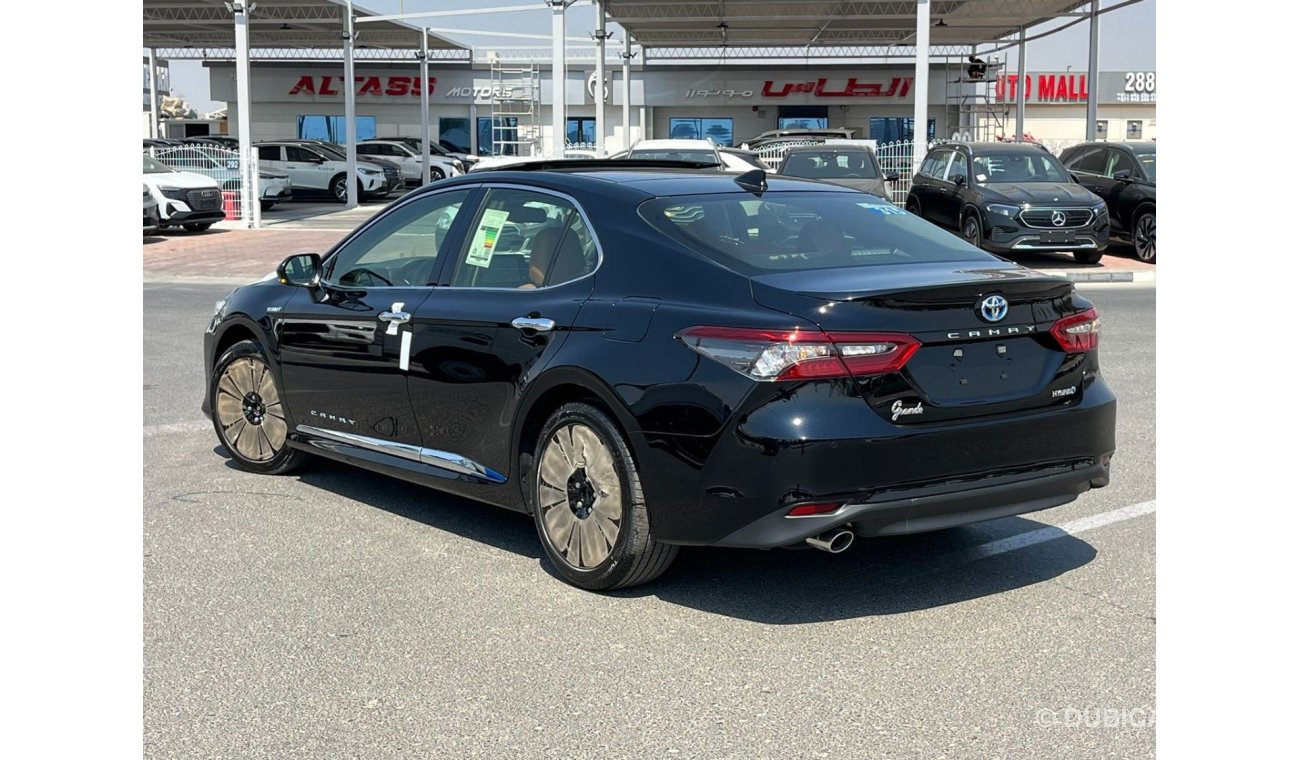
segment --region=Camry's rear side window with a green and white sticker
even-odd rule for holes
[[[497,187],[465,233],[451,286],[550,287],[590,274],[597,260],[595,238],[571,201]]]

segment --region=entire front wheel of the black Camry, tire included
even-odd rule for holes
[[[256,342],[240,340],[221,355],[208,378],[208,404],[217,440],[240,468],[278,475],[307,459],[287,444],[289,424],[276,374]],[[252,438],[246,438],[250,434]]]

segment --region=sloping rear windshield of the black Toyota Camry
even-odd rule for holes
[[[644,203],[640,213],[655,229],[749,277],[881,264],[994,261],[952,233],[857,192],[658,197]]]

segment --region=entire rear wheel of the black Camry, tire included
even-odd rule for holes
[[[546,481],[560,479],[566,469],[571,472],[564,483]],[[614,488],[602,487],[614,478],[618,479]],[[542,550],[560,577],[573,586],[604,591],[647,583],[677,556],[676,546],[659,543],[651,534],[641,475],[623,434],[604,412],[590,404],[564,404],[542,426],[528,491]],[[616,521],[614,513],[619,514]],[[612,542],[607,526],[615,530]],[[567,546],[556,547],[551,533],[567,535]],[[595,538],[589,543],[588,537]],[[582,560],[589,557],[584,553],[593,561],[585,564]]]

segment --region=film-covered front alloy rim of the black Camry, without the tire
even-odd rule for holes
[[[289,434],[276,378],[264,361],[242,356],[217,381],[217,424],[226,446],[251,461],[269,461]]]

